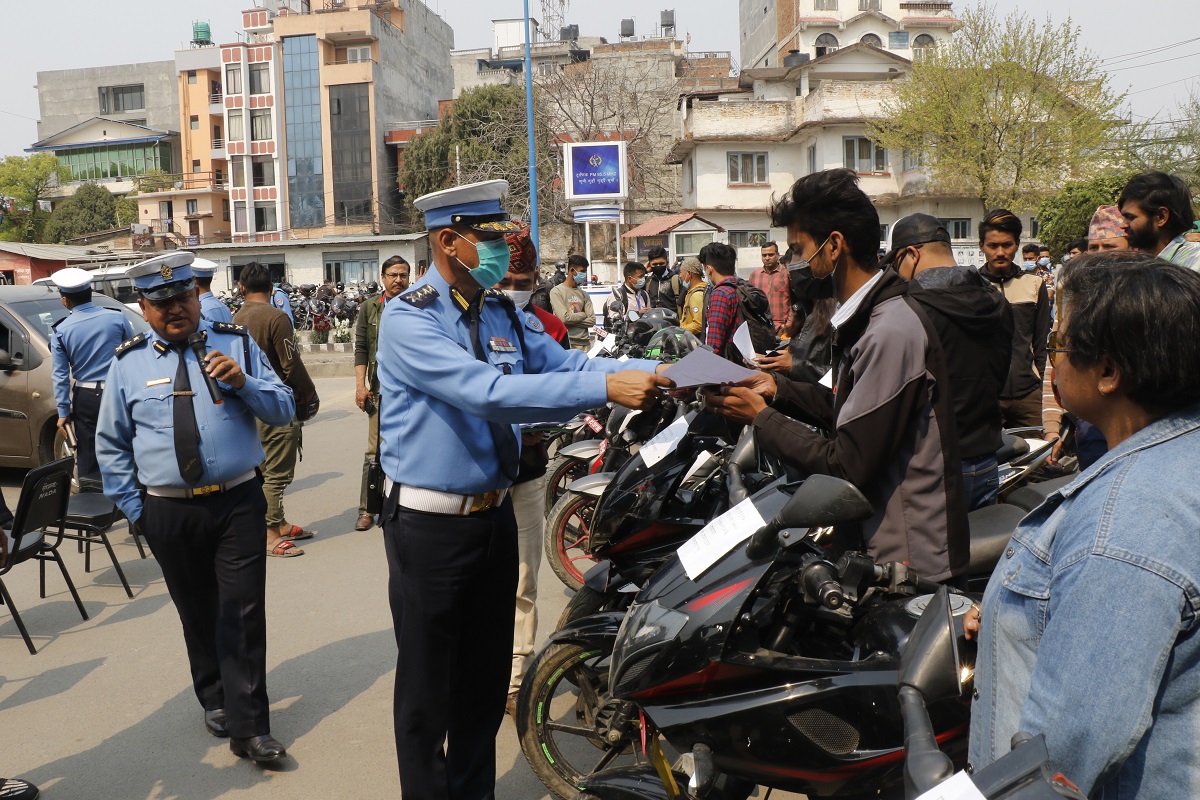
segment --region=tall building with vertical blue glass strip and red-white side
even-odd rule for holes
[[[449,25],[420,0],[324,0],[242,26],[221,47],[233,241],[395,231],[385,132],[452,92]]]

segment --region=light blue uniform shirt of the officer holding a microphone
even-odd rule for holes
[[[197,330],[208,332],[208,350],[232,356],[246,375],[246,384],[239,390],[220,384],[224,402],[216,405],[209,397],[196,355],[184,348],[204,464],[198,486],[208,486],[258,467],[263,445],[254,417],[268,425],[287,425],[295,414],[295,401],[254,339],[236,332],[245,331],[242,326],[200,319]],[[121,345],[108,371],[96,432],[96,458],[104,494],[130,519],[142,516],[137,481],[143,486],[187,487],[175,458],[173,392],[178,353],[152,331],[142,333]]]

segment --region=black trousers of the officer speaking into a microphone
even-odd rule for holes
[[[232,736],[270,733],[262,485],[188,500],[146,495],[140,525],[184,624],[200,705],[226,709]]]

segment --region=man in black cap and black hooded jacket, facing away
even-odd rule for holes
[[[967,510],[991,505],[1000,493],[1000,391],[1012,357],[1013,309],[978,270],[955,263],[950,234],[928,213],[893,225],[884,264],[908,281],[908,296],[944,354]]]

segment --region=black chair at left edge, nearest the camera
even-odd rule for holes
[[[62,525],[71,498],[72,469],[74,469],[74,459],[62,458],[29,470],[25,475],[25,482],[20,487],[20,499],[17,500],[17,509],[13,512],[12,530],[7,531],[8,560],[4,569],[0,569],[0,602],[7,606],[12,613],[12,619],[17,622],[17,630],[25,639],[25,646],[29,648],[30,655],[37,655],[37,650],[34,648],[32,639],[29,638],[29,631],[20,619],[20,613],[12,602],[8,588],[4,584],[4,576],[18,564],[32,560],[38,563],[40,589],[41,596],[44,599],[46,563],[56,563],[80,616],[88,619],[88,609],[83,607],[79,593],[76,591],[74,583],[67,573],[67,565],[62,563],[58,549],[62,542]]]

